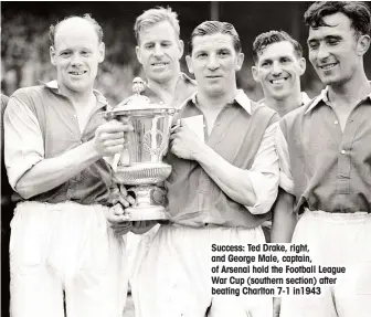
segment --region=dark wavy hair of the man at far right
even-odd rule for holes
[[[324,17],[343,13],[351,21],[356,36],[370,34],[371,13],[369,7],[361,1],[317,1],[304,13],[304,20],[310,28],[328,27]]]

